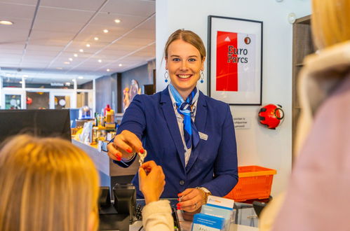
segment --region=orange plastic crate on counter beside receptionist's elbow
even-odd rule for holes
[[[236,202],[269,198],[275,169],[256,165],[238,167],[238,183],[226,198]]]

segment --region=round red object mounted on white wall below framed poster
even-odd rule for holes
[[[281,105],[267,104],[259,111],[259,121],[269,129],[276,129],[284,117]]]

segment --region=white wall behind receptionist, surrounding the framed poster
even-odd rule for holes
[[[286,186],[292,162],[292,25],[288,14],[309,15],[309,0],[157,0],[156,69],[157,91],[166,87],[163,48],[168,36],[179,28],[190,29],[207,44],[208,15],[263,22],[262,104],[281,104],[285,120],[277,130],[257,123],[260,106],[231,106],[234,117],[251,120],[248,130],[236,130],[238,165],[260,165],[277,170],[271,195]],[[206,72],[205,72],[206,73]],[[207,81],[205,76],[204,80]],[[198,89],[207,93],[207,82]]]

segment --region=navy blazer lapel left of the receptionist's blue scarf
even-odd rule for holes
[[[179,126],[177,125],[177,119],[174,113],[173,104],[171,103],[168,87],[166,87],[166,89],[161,92],[160,103],[164,118],[168,124],[168,129],[175,143],[177,154],[179,155],[182,162],[182,167],[184,167],[184,144],[182,143]]]

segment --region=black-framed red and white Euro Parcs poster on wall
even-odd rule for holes
[[[262,22],[209,15],[207,60],[210,97],[262,104]]]

